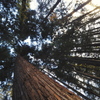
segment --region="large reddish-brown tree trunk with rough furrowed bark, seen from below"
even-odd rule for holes
[[[82,100],[18,56],[13,100]]]

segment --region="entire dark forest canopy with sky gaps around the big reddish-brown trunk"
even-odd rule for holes
[[[0,89],[5,96],[0,99],[11,94],[7,82],[21,55],[94,100],[100,94],[99,1],[37,0],[37,9],[31,9],[32,0],[0,0]]]

